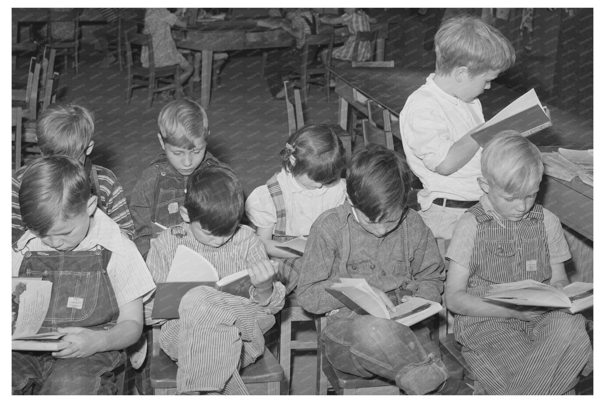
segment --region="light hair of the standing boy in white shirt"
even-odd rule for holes
[[[515,63],[511,42],[477,17],[460,15],[443,21],[435,35],[437,74],[449,76],[466,66],[470,78],[505,71]]]

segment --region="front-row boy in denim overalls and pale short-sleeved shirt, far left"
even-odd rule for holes
[[[71,343],[58,352],[12,352],[13,394],[113,395],[113,370],[143,326],[155,284],[134,243],[97,207],[88,172],[64,155],[31,163],[19,203],[28,230],[12,252],[12,275],[52,282],[38,333]]]

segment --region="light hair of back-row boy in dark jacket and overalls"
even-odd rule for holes
[[[206,111],[195,102],[178,99],[171,101],[157,117],[160,136],[164,143],[191,150],[195,141],[208,139],[208,116]]]

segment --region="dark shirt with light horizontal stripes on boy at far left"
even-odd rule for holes
[[[116,175],[114,175],[111,170],[98,165],[93,164],[93,168],[96,169],[97,178],[99,179],[98,196],[100,205],[105,209],[105,213],[120,226],[120,231],[129,239],[134,239],[134,223],[132,222],[128,204],[126,204],[124,191],[117,181]],[[12,243],[15,243],[27,230],[27,228],[25,228],[25,223],[21,219],[21,208],[19,207],[19,188],[21,187],[21,178],[25,173],[25,169],[27,169],[27,166],[21,167],[13,173],[11,190]],[[91,182],[93,182],[93,172],[91,172],[90,176]]]

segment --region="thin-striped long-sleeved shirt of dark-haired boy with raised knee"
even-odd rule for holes
[[[215,266],[221,279],[245,269],[252,262],[256,262],[259,259],[267,259],[267,253],[260,238],[256,236],[252,228],[246,225],[240,225],[235,231],[234,236],[218,248],[209,247],[198,242],[193,236],[189,224],[183,222],[180,224],[180,227],[185,230],[186,236],[180,238],[173,236],[171,228],[169,228],[155,239],[151,250],[149,250],[147,266],[155,283],[166,281],[178,245],[185,245],[206,257]],[[237,256],[238,259],[241,259],[241,264],[231,264],[232,256]],[[286,295],[286,289],[281,283],[274,282],[273,286],[273,295],[269,298],[268,303],[267,301],[257,301],[255,299],[256,289],[253,286],[250,288],[250,299],[264,306],[264,310],[270,315],[275,314],[279,310],[274,310],[276,306],[280,306],[281,309]],[[145,303],[145,324],[165,322],[151,319],[153,302],[153,298],[149,298]]]

